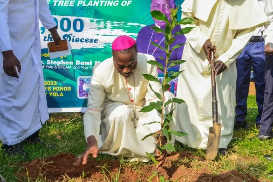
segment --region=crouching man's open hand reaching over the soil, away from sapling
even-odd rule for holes
[[[89,155],[92,155],[94,158],[98,157],[99,149],[95,136],[89,136],[87,138],[87,145],[87,149],[82,153],[81,157],[73,163],[74,166],[79,166],[80,164],[85,165]]]

